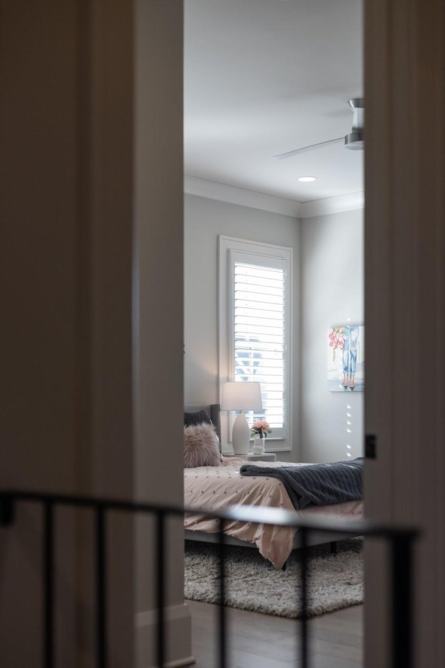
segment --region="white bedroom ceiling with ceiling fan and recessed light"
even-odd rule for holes
[[[363,190],[363,151],[342,143],[362,97],[361,0],[185,0],[188,176],[298,202]],[[300,176],[316,176],[300,183]]]

